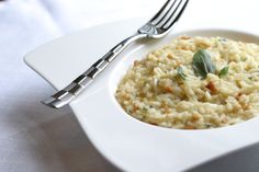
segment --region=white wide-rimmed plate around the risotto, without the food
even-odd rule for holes
[[[63,89],[144,21],[145,18],[110,23],[67,35],[27,54],[25,61],[56,89]],[[142,123],[120,107],[113,94],[130,65],[179,34],[259,43],[258,36],[244,32],[196,30],[174,31],[164,39],[128,47],[70,104],[97,149],[120,169],[182,171],[259,141],[259,117],[217,129],[179,130]]]

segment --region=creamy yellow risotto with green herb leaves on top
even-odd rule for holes
[[[180,36],[135,60],[115,92],[126,113],[179,129],[234,125],[259,114],[259,46]]]

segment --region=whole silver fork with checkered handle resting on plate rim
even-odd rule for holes
[[[94,62],[86,72],[76,78],[63,90],[42,101],[42,103],[54,108],[59,108],[70,103],[131,43],[140,38],[164,37],[179,20],[189,0],[168,0],[150,21],[138,28],[136,34],[114,46],[109,53]]]

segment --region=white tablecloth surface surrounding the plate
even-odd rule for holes
[[[91,145],[69,110],[40,101],[54,90],[23,62],[34,47],[97,24],[153,14],[165,0],[7,0],[0,2],[0,171],[119,171]],[[259,31],[257,0],[192,0],[203,21],[229,21]],[[134,9],[134,12],[133,10]],[[224,20],[223,20],[224,18]],[[190,20],[192,21],[192,20]],[[257,32],[259,33],[259,32]],[[190,172],[259,170],[259,144],[196,167]]]

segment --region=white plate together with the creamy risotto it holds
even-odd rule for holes
[[[60,90],[144,21],[67,35],[25,61]],[[258,35],[178,28],[130,46],[69,104],[122,171],[184,171],[259,141]]]

